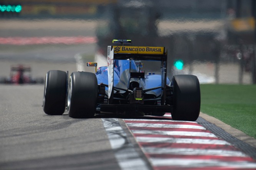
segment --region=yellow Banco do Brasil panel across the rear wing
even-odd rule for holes
[[[165,54],[165,47],[113,46],[114,53],[122,54]]]

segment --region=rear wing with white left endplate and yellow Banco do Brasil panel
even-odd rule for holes
[[[117,42],[117,40],[116,40]],[[115,43],[116,43],[115,42]],[[123,41],[121,41],[123,42]],[[117,43],[120,43],[119,41]],[[113,99],[114,60],[153,60],[161,61],[161,87],[163,104],[166,98],[167,52],[165,47],[108,46],[108,102]],[[132,76],[133,73],[130,72]]]

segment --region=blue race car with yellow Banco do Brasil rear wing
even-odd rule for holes
[[[173,120],[196,121],[200,112],[200,88],[194,75],[167,77],[165,47],[123,46],[130,40],[114,40],[108,46],[108,66],[97,72],[50,70],[45,79],[43,110],[71,118],[92,118],[95,113],[132,116],[163,116]],[[160,73],[145,75],[141,61],[159,61]],[[97,67],[96,62],[87,66]]]

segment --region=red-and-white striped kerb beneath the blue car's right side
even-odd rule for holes
[[[255,160],[198,123],[155,118],[125,119],[154,169],[255,170]]]

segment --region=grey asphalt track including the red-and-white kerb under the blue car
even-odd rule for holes
[[[253,155],[209,131],[201,118],[49,116],[42,110],[43,88],[0,86],[1,170],[256,168]]]

